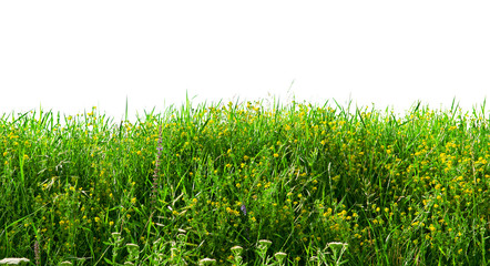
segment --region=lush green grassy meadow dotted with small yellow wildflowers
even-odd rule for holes
[[[216,103],[0,119],[0,259],[486,265],[484,103]]]

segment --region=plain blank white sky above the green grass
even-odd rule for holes
[[[490,1],[4,0],[0,113],[96,105],[119,120],[126,96],[134,117],[186,90],[194,106],[294,93],[471,109],[490,91],[489,13]]]

